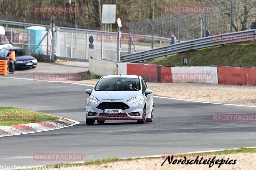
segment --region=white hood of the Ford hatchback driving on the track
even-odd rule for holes
[[[92,91],[92,96],[98,100],[130,100],[142,95],[140,91]]]

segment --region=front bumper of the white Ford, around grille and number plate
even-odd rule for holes
[[[128,103],[127,100],[115,100],[115,102],[123,102],[130,108],[122,110],[122,114],[106,114],[103,110],[96,108],[102,102],[111,102],[111,100],[100,100],[98,103],[93,103],[87,100],[86,118],[94,120],[142,120],[143,102],[142,100]],[[121,108],[120,108],[121,109]],[[97,115],[88,115],[89,112],[97,113]],[[131,116],[129,113],[139,112],[139,116]]]

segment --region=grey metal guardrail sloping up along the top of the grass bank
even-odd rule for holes
[[[242,41],[238,41],[238,40],[230,41],[229,39],[223,40],[223,38],[225,38],[225,37],[232,37],[232,36],[234,36],[234,37],[245,36],[246,37],[248,35],[256,36],[256,29],[246,30],[246,31],[238,31],[238,32],[234,32],[234,33],[225,33],[225,34],[213,35],[213,36],[205,37],[205,38],[199,38],[199,39],[195,39],[195,40],[184,41],[184,42],[180,42],[177,44],[172,44],[172,45],[168,45],[168,46],[164,46],[164,47],[149,49],[149,50],[146,50],[143,52],[122,55],[120,58],[121,58],[122,62],[139,62],[139,61],[144,61],[144,60],[162,57],[162,56],[166,56],[166,55],[171,55],[171,54],[175,54],[175,53],[185,52],[185,51],[189,51],[189,50],[193,50],[193,49],[200,49],[200,48],[213,47],[213,46],[218,46],[218,45],[248,41],[248,39],[245,39]],[[216,38],[216,37],[222,37],[222,40],[215,41],[214,38]],[[256,40],[256,37],[254,37],[253,40]]]

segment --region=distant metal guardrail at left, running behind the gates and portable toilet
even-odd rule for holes
[[[14,25],[14,26],[24,26],[24,27],[29,27],[29,26],[44,26],[45,28],[49,29],[50,25],[41,25],[41,24],[34,24],[34,23],[27,23],[27,22],[17,22],[17,21],[7,21],[7,20],[0,20],[0,24],[8,24],[8,25]],[[104,35],[116,35],[117,32],[108,32],[108,31],[99,31],[99,30],[89,30],[89,29],[81,29],[81,28],[72,28],[72,27],[59,27],[55,26],[56,29],[59,29],[60,31],[70,31],[74,32],[76,31],[77,33],[93,33],[93,34],[104,34]],[[128,36],[129,33],[122,33],[123,35]],[[151,35],[143,35],[145,36],[146,39],[151,39]],[[154,40],[156,41],[166,41],[170,42],[170,38],[165,38],[165,37],[158,37],[154,36]]]

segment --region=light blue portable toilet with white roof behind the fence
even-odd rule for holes
[[[27,28],[27,34],[28,34],[28,49],[30,51],[34,51],[35,54],[42,54],[42,43],[36,48],[36,46],[39,44],[39,42],[43,38],[43,32],[46,31],[46,28],[44,26],[30,26]],[[36,44],[36,45],[30,45],[30,44]],[[36,50],[35,50],[36,48]]]

